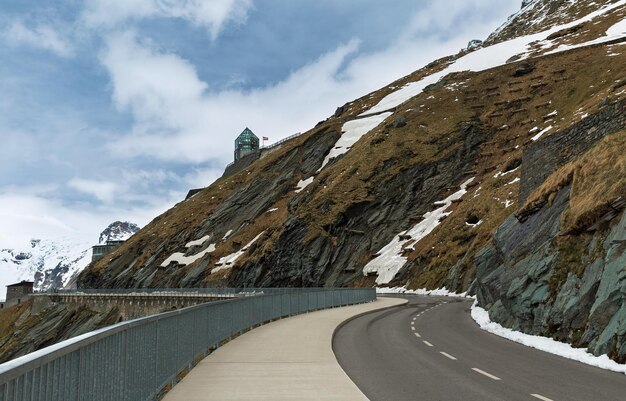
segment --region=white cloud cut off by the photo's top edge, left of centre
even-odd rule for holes
[[[181,18],[216,39],[226,23],[244,22],[251,6],[252,0],[89,0],[83,18],[96,27],[144,18]]]

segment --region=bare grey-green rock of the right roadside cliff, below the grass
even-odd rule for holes
[[[474,291],[493,321],[626,361],[626,213],[604,231],[559,237],[569,203],[510,216],[475,258]]]

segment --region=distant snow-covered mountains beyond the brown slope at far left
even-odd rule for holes
[[[116,221],[99,236],[99,243],[126,240],[139,230],[136,224]],[[60,237],[33,239],[19,249],[0,249],[0,276],[3,285],[32,280],[35,289],[47,290],[68,285],[91,262],[93,240]]]

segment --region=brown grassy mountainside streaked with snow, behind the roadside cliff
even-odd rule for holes
[[[110,258],[92,264],[79,285],[408,285],[465,291],[477,272],[500,269],[499,259],[487,263],[480,255],[490,246],[499,254],[498,232],[517,221],[521,206],[520,213],[528,221],[541,220],[545,230],[535,240],[523,223],[509,233],[533,244],[557,241],[558,216],[570,207],[569,194],[548,195],[546,203],[560,201],[558,212],[527,200],[541,199],[535,191],[555,171],[626,128],[625,18],[626,1],[530,2],[482,48],[435,61],[338,108],[310,131],[179,203]],[[606,168],[611,176],[626,176],[622,164]],[[626,188],[622,182],[615,184],[618,192]],[[576,196],[589,198],[584,193],[591,190],[582,188]],[[606,220],[594,202],[576,205],[576,214],[591,222],[587,229],[602,238],[612,235],[623,214],[618,207]],[[537,249],[522,248],[519,257],[537,257]],[[574,259],[584,253],[555,249]],[[504,265],[516,262],[505,259]],[[520,274],[528,268],[521,266]],[[552,280],[558,298],[567,279],[563,269],[570,268],[569,262],[561,264],[560,273],[538,279]],[[478,277],[472,288],[487,308],[499,300],[506,309],[508,287],[492,278],[480,287],[484,277]],[[520,302],[533,296],[529,291]],[[554,309],[557,298],[536,295],[532,310]],[[493,317],[554,334],[530,324],[534,315],[527,311],[507,313],[494,309]],[[609,319],[579,344],[599,341],[615,315],[612,309],[607,313]],[[612,356],[619,359],[626,349],[617,345]]]

